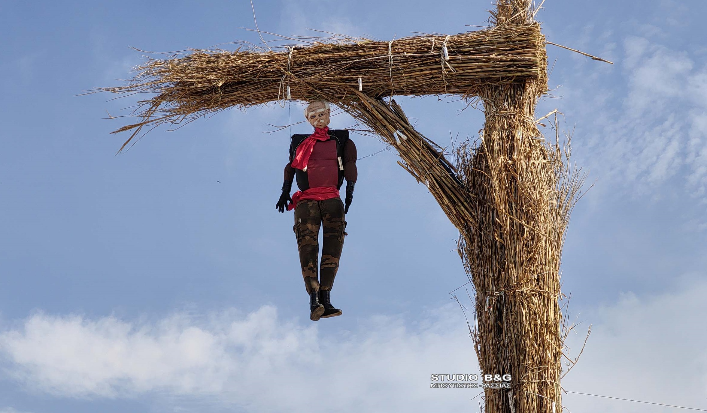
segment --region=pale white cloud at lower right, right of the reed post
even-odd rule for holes
[[[707,282],[653,297],[623,294],[592,314],[587,347],[565,390],[707,409]],[[577,354],[584,337],[568,345]],[[572,413],[665,412],[665,407],[569,394]]]

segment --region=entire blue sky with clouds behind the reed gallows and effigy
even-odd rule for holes
[[[381,40],[484,25],[487,1],[254,0],[261,30]],[[563,253],[581,321],[566,390],[707,408],[707,34],[703,1],[548,0],[552,91],[588,171]],[[332,292],[344,316],[312,323],[292,215],[274,210],[293,103],[232,110],[127,136],[106,94],[144,56],[259,43],[250,1],[0,4],[0,413],[337,412],[478,409],[428,388],[478,371],[457,233],[395,153],[358,162]],[[266,36],[266,40],[271,37]],[[474,138],[463,102],[401,98],[440,144]],[[345,114],[332,126],[352,126]],[[552,131],[547,131],[552,133]],[[354,135],[360,156],[384,145]],[[457,292],[464,289],[457,290]],[[464,294],[466,294],[464,292]],[[462,303],[464,303],[463,297]],[[468,302],[468,299],[467,299]],[[316,387],[316,386],[315,386]],[[568,394],[576,412],[667,412]]]

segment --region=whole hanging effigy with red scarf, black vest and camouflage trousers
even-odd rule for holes
[[[295,210],[293,230],[300,253],[305,288],[310,296],[310,320],[341,316],[330,294],[339,270],[346,236],[345,215],[354,200],[356,145],[345,129],[329,129],[328,102],[311,102],[305,118],[315,128],[311,135],[295,134],[290,144],[290,162],[285,166],[282,194],[275,208],[281,213]],[[297,191],[290,196],[297,177]],[[339,189],[346,178],[346,203]],[[317,270],[319,229],[322,228],[322,262]]]

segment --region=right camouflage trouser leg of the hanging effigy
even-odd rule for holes
[[[344,248],[344,203],[341,198],[320,201],[322,210],[322,263],[320,265],[320,290],[331,291],[334,277],[339,270],[339,258]]]

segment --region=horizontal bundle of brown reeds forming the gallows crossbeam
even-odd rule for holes
[[[315,41],[282,52],[194,50],[173,59],[151,59],[136,68],[127,85],[99,89],[154,95],[138,102],[138,123],[115,131],[134,130],[132,139],[149,124],[179,124],[232,107],[315,100],[322,94],[337,103],[355,100],[350,89],[358,88],[359,78],[363,92],[373,97],[470,96],[486,85],[544,83],[546,60],[544,37],[539,25],[531,23],[391,42]]]

